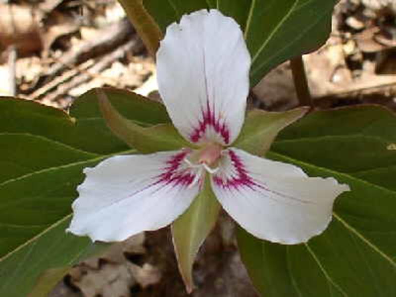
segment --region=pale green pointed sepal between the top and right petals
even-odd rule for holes
[[[301,118],[308,108],[301,107],[284,112],[251,110],[241,134],[232,145],[255,155],[263,155],[271,146],[279,131]]]

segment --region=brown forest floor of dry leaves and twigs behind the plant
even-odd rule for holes
[[[0,0],[0,96],[67,110],[95,87],[158,99],[155,66],[116,0]],[[16,20],[17,16],[17,22]],[[333,30],[304,55],[317,108],[378,103],[396,109],[396,4],[341,0]],[[288,62],[252,91],[250,105],[297,105]],[[234,223],[222,214],[194,265],[193,297],[256,297],[241,262]],[[85,261],[50,297],[183,297],[168,228],[135,236]]]

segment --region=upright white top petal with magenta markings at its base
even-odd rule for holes
[[[184,15],[157,52],[159,93],[192,143],[231,144],[245,117],[250,55],[239,25],[218,10]]]

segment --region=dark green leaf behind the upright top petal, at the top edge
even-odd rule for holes
[[[320,47],[331,31],[337,0],[144,0],[148,12],[165,32],[181,16],[218,8],[244,30],[252,57],[250,85],[256,85],[280,63]],[[215,30],[215,29],[214,29]]]

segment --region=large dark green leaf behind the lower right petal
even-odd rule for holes
[[[374,106],[313,112],[280,133],[267,157],[333,176],[351,191],[337,198],[329,228],[307,244],[272,244],[239,230],[263,296],[396,295],[395,143],[395,115]]]

